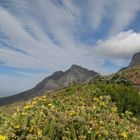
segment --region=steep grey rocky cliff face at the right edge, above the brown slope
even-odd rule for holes
[[[133,55],[132,61],[129,67],[140,65],[140,52]]]

